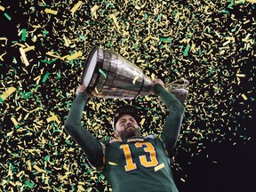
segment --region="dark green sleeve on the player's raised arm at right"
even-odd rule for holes
[[[185,108],[171,92],[166,91],[160,84],[156,84],[154,90],[169,109],[169,115],[165,119],[160,139],[163,140],[169,156],[174,156]]]

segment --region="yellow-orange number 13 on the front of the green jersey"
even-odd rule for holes
[[[144,151],[148,153],[149,160],[145,156],[139,156],[140,158],[140,164],[145,167],[152,167],[156,166],[158,164],[158,161],[156,159],[156,150],[154,146],[149,142],[136,142],[134,143],[136,148],[144,148]],[[126,172],[135,170],[137,168],[137,165],[132,161],[132,153],[129,148],[128,144],[121,145],[120,148],[123,148],[124,150],[124,156],[126,165],[124,166],[124,169]]]

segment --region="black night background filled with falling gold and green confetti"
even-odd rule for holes
[[[188,79],[178,156],[172,164],[180,192],[256,191],[255,4],[92,1],[73,14],[77,3],[0,1],[1,98],[16,88],[0,102],[0,188],[110,190],[63,131],[88,52],[100,44],[165,84]],[[29,46],[35,47],[26,52],[26,66],[19,49]],[[62,58],[79,51],[83,56],[75,60]],[[145,134],[161,132],[156,128],[167,114],[152,95],[93,98],[85,107],[83,124],[97,138],[109,139],[113,110],[124,102],[141,108]]]

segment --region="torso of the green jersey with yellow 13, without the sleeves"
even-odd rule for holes
[[[114,191],[178,191],[164,143],[155,135],[102,141],[103,173]]]

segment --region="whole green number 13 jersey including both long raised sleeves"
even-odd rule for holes
[[[172,93],[156,84],[155,92],[169,108],[157,136],[126,140],[97,140],[81,125],[87,97],[79,92],[68,113],[65,130],[84,150],[90,164],[103,172],[114,192],[176,192],[170,164],[184,107]]]

